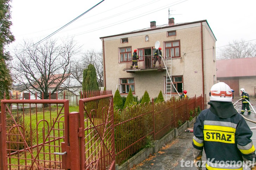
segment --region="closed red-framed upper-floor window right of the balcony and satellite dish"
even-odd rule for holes
[[[165,42],[165,56],[180,57],[180,41]]]

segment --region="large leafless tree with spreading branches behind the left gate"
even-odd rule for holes
[[[73,38],[61,44],[57,40],[46,40],[40,44],[25,42],[22,48],[22,52],[15,50],[15,81],[30,93],[37,92],[39,98],[49,98],[49,89],[51,94],[63,90],[62,83],[70,74],[70,61],[80,49]]]

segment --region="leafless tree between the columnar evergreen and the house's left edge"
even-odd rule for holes
[[[94,65],[97,74],[97,81],[100,87],[104,86],[103,83],[103,55],[102,50],[100,52],[96,52],[94,49],[87,50],[87,52],[83,55],[83,63],[85,66],[89,64]]]

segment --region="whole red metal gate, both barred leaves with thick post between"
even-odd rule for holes
[[[1,100],[0,169],[115,169],[113,95]]]

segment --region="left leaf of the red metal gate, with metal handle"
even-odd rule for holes
[[[0,122],[1,170],[65,168],[54,152],[69,143],[68,100],[1,100]]]

